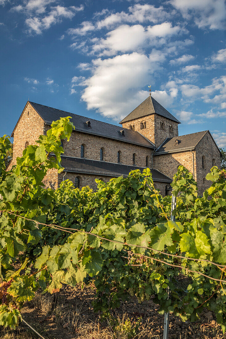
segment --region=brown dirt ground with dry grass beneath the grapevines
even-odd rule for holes
[[[90,284],[76,287],[63,286],[58,303],[52,310],[52,296],[37,294],[34,300],[22,309],[23,319],[45,339],[162,339],[164,315],[159,315],[157,305],[151,300],[139,304],[136,298],[121,302],[113,311],[118,326],[113,328],[107,321],[98,333],[97,315],[93,312],[92,301],[95,286]],[[137,324],[137,326],[136,326]],[[133,328],[136,327],[136,331]],[[23,322],[17,330],[0,327],[1,339],[38,338]],[[197,322],[182,322],[170,315],[169,339],[226,339],[214,315],[205,311]]]

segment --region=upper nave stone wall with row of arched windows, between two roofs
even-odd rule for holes
[[[102,148],[104,161],[117,163],[117,153],[121,151],[120,162],[122,164],[133,165],[133,153],[135,153],[135,165],[146,167],[146,156],[148,156],[148,166],[151,166],[151,148],[77,131],[72,132],[69,142],[63,140],[63,155],[80,158],[81,145],[84,145],[84,157],[87,159],[100,160],[100,148]]]

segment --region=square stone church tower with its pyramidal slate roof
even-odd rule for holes
[[[158,148],[167,138],[178,136],[180,121],[150,95],[120,124],[139,132]]]

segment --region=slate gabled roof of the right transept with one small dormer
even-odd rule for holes
[[[174,138],[167,138],[161,146],[158,147],[158,149],[153,153],[153,155],[160,155],[165,153],[174,153],[174,152],[180,152],[185,151],[186,149],[194,149],[197,144],[202,140],[204,135],[206,133],[209,133],[213,142],[215,143],[211,133],[207,131],[197,132],[197,133],[191,133],[186,135],[181,135]],[[178,140],[178,144],[176,144],[176,140]],[[216,145],[216,143],[215,143]],[[218,146],[216,145],[218,148]],[[218,148],[219,152],[220,149]],[[221,153],[221,152],[220,152]]]

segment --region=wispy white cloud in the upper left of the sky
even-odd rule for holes
[[[80,7],[71,6],[69,8],[58,5],[52,7],[47,15],[43,17],[30,17],[25,22],[29,27],[29,33],[41,34],[44,29],[48,29],[51,25],[60,22],[62,18],[72,19],[78,11],[83,9],[82,5]]]

